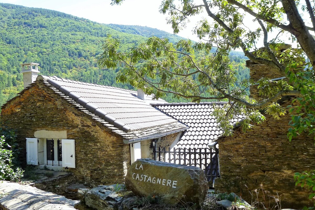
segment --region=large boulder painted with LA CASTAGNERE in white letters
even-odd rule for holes
[[[152,159],[135,161],[128,170],[125,184],[135,195],[157,195],[170,205],[191,202],[201,206],[209,188],[200,168]]]

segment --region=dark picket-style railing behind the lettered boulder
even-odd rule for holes
[[[212,184],[214,179],[220,176],[217,143],[212,148],[171,149],[169,147],[167,149],[165,147],[153,147],[154,160],[199,167],[204,170],[209,184]]]

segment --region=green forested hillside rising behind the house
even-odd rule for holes
[[[119,69],[100,69],[98,55],[106,36],[121,41],[129,50],[148,37],[182,37],[144,26],[100,24],[54,10],[0,3],[0,106],[23,89],[20,64],[39,63],[40,74],[133,89],[116,82]],[[238,81],[249,78],[246,57],[233,51],[230,59]],[[169,102],[185,101],[167,95]]]

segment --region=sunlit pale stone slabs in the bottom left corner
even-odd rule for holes
[[[78,202],[29,185],[0,181],[0,209],[3,210],[74,210]]]

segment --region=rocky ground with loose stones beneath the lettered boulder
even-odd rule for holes
[[[193,203],[179,203],[168,206],[159,202],[158,196],[138,197],[125,190],[123,184],[103,186],[93,189],[79,189],[80,203],[75,205],[78,210],[196,210]],[[254,209],[246,201],[234,193],[214,194],[209,190],[201,210],[251,210]]]

